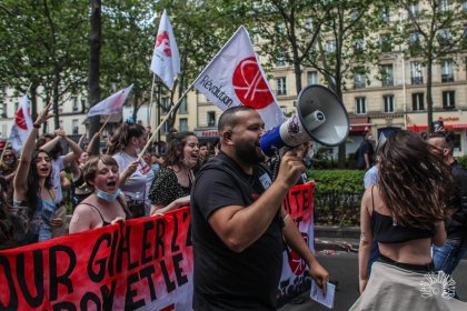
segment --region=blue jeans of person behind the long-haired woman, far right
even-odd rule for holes
[[[459,261],[467,253],[467,248],[460,244],[445,242],[443,247],[433,245],[433,261],[436,270],[453,274]]]

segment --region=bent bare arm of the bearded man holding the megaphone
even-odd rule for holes
[[[288,151],[281,159],[276,181],[252,204],[228,205],[216,210],[208,219],[222,242],[235,252],[242,252],[268,229],[289,188],[305,171],[296,151]]]

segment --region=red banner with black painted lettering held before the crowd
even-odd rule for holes
[[[312,249],[312,183],[282,207]],[[191,310],[189,208],[0,252],[0,310]],[[309,287],[306,264],[284,257],[279,303]]]

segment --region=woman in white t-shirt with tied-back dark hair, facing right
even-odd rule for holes
[[[108,150],[118,163],[121,190],[135,218],[149,215],[151,207],[148,195],[155,173],[142,159],[138,161],[147,141],[146,129],[128,119],[110,139]]]

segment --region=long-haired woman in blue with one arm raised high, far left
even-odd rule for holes
[[[24,142],[17,174],[13,179],[13,208],[26,212],[30,219],[28,241],[44,241],[52,238],[52,227],[63,224],[62,219],[53,218],[57,211],[56,192],[51,173],[51,157],[44,150],[36,148],[36,138],[41,126],[51,118],[50,104],[41,111]]]

